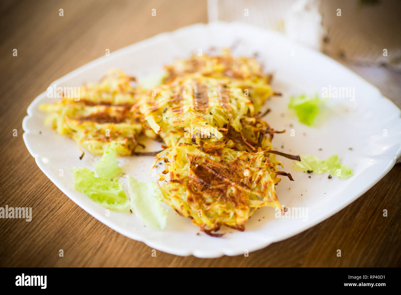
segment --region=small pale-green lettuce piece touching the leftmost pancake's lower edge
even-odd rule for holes
[[[113,179],[122,173],[122,169],[118,167],[117,152],[115,142],[105,149],[100,161],[97,162],[95,171],[100,177]]]

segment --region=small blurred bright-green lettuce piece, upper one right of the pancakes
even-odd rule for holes
[[[313,126],[313,122],[320,113],[320,105],[325,100],[319,98],[318,94],[314,98],[301,94],[299,96],[291,96],[288,108],[294,110],[301,123]]]

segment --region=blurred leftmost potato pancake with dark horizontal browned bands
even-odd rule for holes
[[[134,82],[121,71],[110,71],[99,83],[83,85],[78,101],[63,98],[40,108],[52,113],[47,123],[71,136],[80,148],[102,155],[116,142],[118,155],[132,155],[143,129],[139,110],[132,108],[138,101]]]

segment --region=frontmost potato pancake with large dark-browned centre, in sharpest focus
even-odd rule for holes
[[[281,208],[275,193],[281,179],[270,155],[235,151],[225,142],[178,143],[158,156],[170,178],[160,186],[164,202],[208,234],[221,226],[242,231],[256,209]]]

